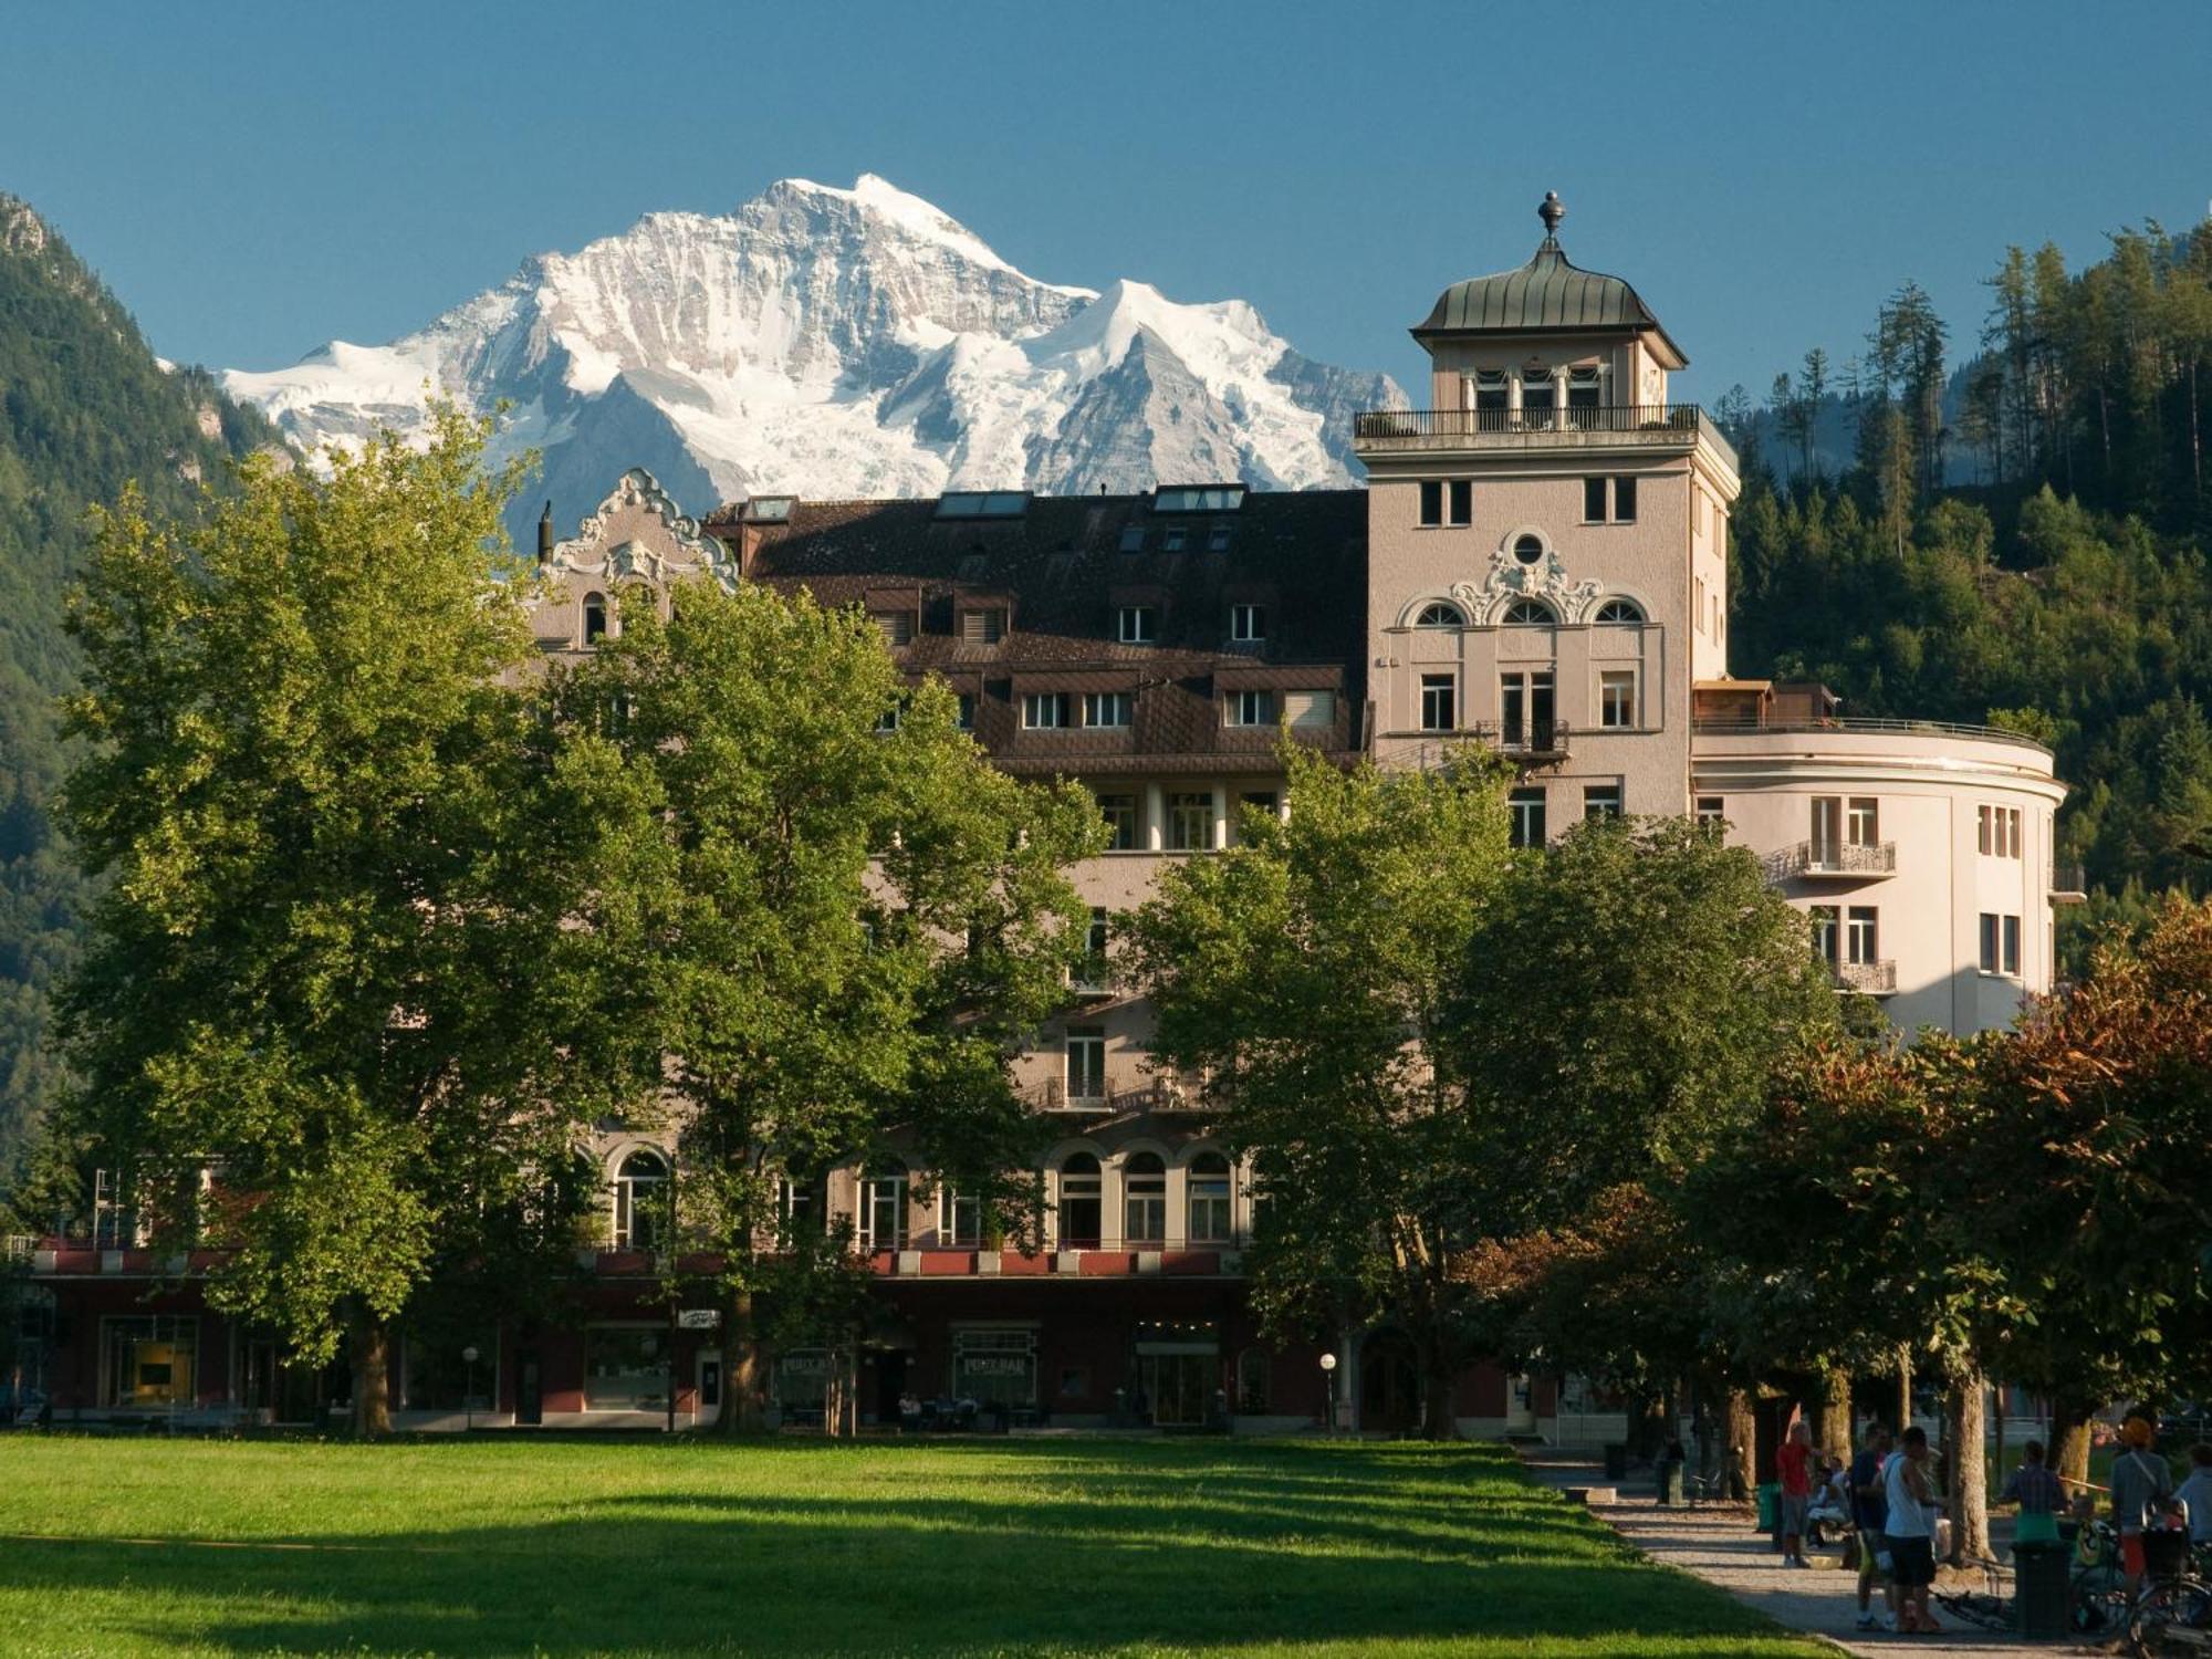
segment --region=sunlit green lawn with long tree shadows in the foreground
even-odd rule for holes
[[[4,1655],[1816,1655],[1498,1447],[0,1438]]]

